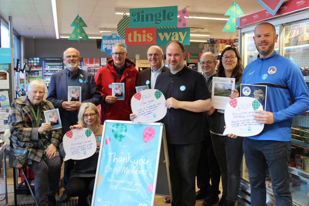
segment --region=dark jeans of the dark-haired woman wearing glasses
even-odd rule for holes
[[[231,138],[211,133],[222,180],[222,195],[231,202],[237,201],[243,159],[243,137]]]

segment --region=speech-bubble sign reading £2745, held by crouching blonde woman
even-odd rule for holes
[[[63,149],[66,152],[64,161],[68,159],[86,159],[96,150],[95,135],[90,129],[73,129],[63,136]]]

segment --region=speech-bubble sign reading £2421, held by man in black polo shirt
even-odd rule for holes
[[[150,123],[161,120],[166,115],[165,97],[161,91],[155,89],[142,90],[131,99],[131,109],[138,122]]]

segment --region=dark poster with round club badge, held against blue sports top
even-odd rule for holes
[[[240,84],[240,96],[252,97],[256,99],[261,103],[264,111],[266,109],[266,95],[267,95],[267,86],[254,85],[254,84]]]

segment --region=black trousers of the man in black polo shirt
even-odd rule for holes
[[[170,163],[172,206],[195,205],[195,177],[201,142],[187,145],[167,144]]]

